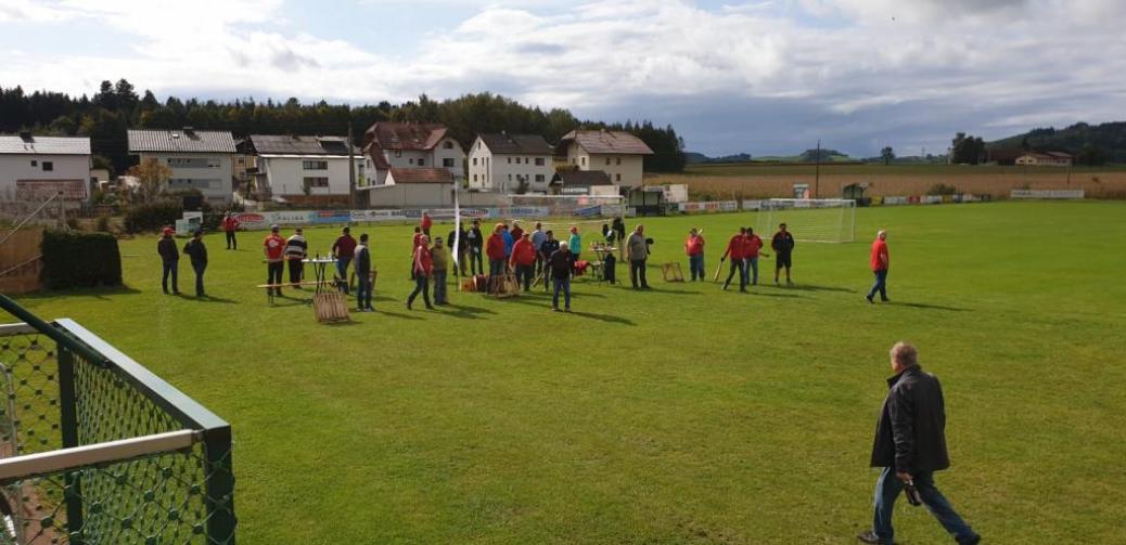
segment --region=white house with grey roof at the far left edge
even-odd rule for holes
[[[0,200],[90,198],[90,138],[0,135]]]

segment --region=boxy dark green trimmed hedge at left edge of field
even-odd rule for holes
[[[122,253],[106,233],[47,230],[43,279],[48,290],[122,284]]]

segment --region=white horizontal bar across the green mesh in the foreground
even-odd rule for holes
[[[0,482],[179,451],[191,446],[196,434],[181,429],[3,458],[0,460]]]

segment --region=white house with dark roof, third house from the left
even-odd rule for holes
[[[256,155],[257,172],[275,197],[292,202],[350,202],[348,138],[251,135],[248,144],[244,151]],[[365,160],[355,146],[351,153],[356,185],[363,188]]]

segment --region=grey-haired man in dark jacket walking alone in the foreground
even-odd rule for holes
[[[859,536],[864,543],[894,543],[892,512],[904,488],[927,506],[935,518],[962,545],[981,541],[954,510],[938,488],[935,472],[950,466],[946,452],[946,407],[938,378],[919,366],[914,346],[899,342],[891,351],[892,371],[887,397],[876,425],[872,466],[883,467],[876,481],[876,507],[870,530]]]

